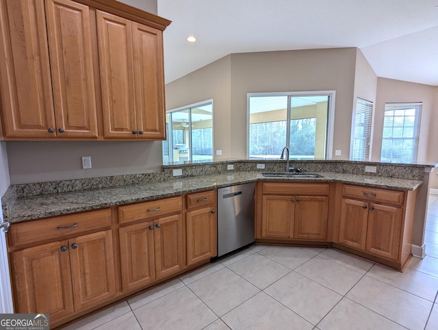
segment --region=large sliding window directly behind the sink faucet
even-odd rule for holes
[[[291,160],[325,159],[334,97],[334,91],[248,94],[248,157],[279,159],[287,146]]]

